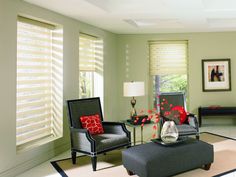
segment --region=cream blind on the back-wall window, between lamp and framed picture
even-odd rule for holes
[[[150,41],[150,75],[186,74],[187,41]]]

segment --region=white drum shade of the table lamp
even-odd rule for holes
[[[134,97],[145,95],[144,82],[124,82],[124,96]]]

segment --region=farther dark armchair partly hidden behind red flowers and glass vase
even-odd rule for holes
[[[182,92],[161,93],[159,97],[160,102],[162,102],[163,99],[167,100],[167,102],[173,106],[182,106],[186,110],[185,95]],[[165,110],[160,109],[161,127],[167,119],[164,116],[164,111]],[[195,135],[196,139],[199,139],[199,126],[197,117],[194,114],[189,113],[185,122],[181,125],[176,125],[176,127],[179,132],[179,137]]]

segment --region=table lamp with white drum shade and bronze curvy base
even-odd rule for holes
[[[130,118],[137,115],[135,110],[136,96],[144,96],[144,82],[124,82],[123,92],[125,97],[132,97],[130,103],[132,105],[132,110],[130,112]]]

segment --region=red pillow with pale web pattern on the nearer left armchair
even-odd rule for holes
[[[80,122],[83,128],[86,128],[91,135],[104,133],[102,122],[98,114],[81,116]]]

